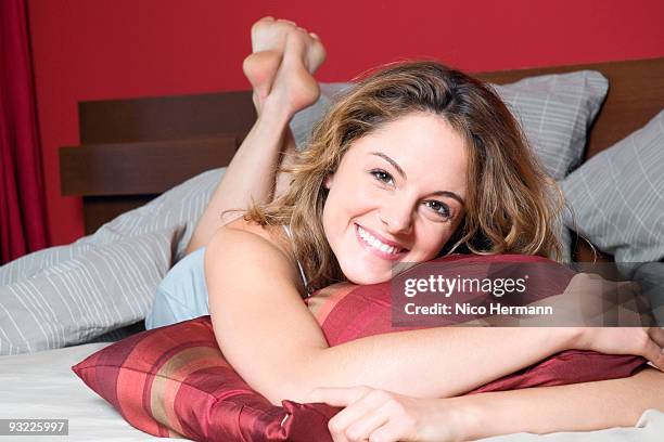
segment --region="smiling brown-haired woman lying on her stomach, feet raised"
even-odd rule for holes
[[[652,368],[452,398],[564,349],[642,355],[664,366],[659,328],[438,327],[328,347],[303,302],[315,289],[385,282],[396,262],[459,247],[557,256],[554,183],[500,99],[433,62],[392,65],[361,80],[298,154],[288,125],[318,98],[311,74],[324,49],[316,35],[270,17],[253,26],[252,44],[244,72],[258,119],[180,263],[199,275],[195,290],[180,290],[180,303],[199,302],[206,314],[207,288],[219,347],[253,388],[274,404],[345,406],[330,420],[335,441],[589,430],[664,410],[664,377]],[[239,219],[238,208],[245,210]],[[165,325],[164,311],[177,308],[165,302],[157,296],[149,327]]]

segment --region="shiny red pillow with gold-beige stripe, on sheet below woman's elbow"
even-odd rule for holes
[[[331,441],[325,404],[272,405],[221,354],[209,316],[139,333],[72,369],[133,427],[197,441]]]

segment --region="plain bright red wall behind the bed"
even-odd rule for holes
[[[28,0],[53,244],[82,234],[60,196],[58,147],[78,144],[77,102],[248,88],[242,60],[264,15],[319,34],[319,80],[436,57],[493,70],[664,56],[661,0]],[[29,172],[29,171],[26,171]]]

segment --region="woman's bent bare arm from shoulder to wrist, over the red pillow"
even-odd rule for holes
[[[229,227],[219,230],[205,255],[219,347],[238,373],[274,404],[302,401],[323,386],[367,385],[421,398],[457,395],[580,342],[573,328],[439,327],[330,348],[296,289],[295,269],[293,259],[266,238]],[[605,337],[608,348],[637,349],[628,342],[636,335],[624,335]]]

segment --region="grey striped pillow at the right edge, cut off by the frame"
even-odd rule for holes
[[[616,262],[664,258],[664,110],[562,182],[565,225]]]

